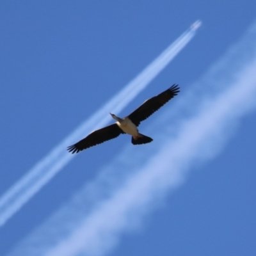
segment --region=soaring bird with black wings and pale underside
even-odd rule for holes
[[[132,136],[133,145],[141,145],[150,143],[152,138],[141,134],[138,131],[140,123],[147,119],[150,115],[156,112],[159,108],[164,106],[170,99],[175,97],[180,92],[178,84],[173,84],[164,92],[156,95],[150,99],[145,100],[143,104],[135,109],[130,115],[120,118],[114,114],[109,113],[117,122],[108,125],[104,128],[91,132],[83,140],[76,144],[67,147],[68,152],[72,154],[78,153],[86,148],[93,147],[108,140],[118,137],[120,134],[130,134]]]

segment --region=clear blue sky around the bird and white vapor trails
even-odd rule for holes
[[[122,114],[173,83],[182,88],[178,97],[185,97],[189,86],[200,81],[255,22],[255,5],[255,1],[2,1],[0,193],[201,19],[203,26],[195,38]],[[141,132],[152,124],[150,136],[157,138],[158,115],[142,124]],[[166,192],[140,224],[121,232],[109,255],[254,255],[254,119],[255,112],[250,111],[232,123],[217,157],[188,166],[182,186]],[[1,227],[0,254],[10,252],[84,183],[95,180],[129,143],[130,138],[122,136],[79,154]],[[147,148],[135,152],[147,162]],[[132,161],[131,154],[127,156]],[[122,162],[125,170],[129,162]]]

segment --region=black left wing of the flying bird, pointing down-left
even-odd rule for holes
[[[78,153],[86,148],[93,147],[97,144],[103,143],[104,141],[116,138],[121,133],[124,133],[117,124],[108,125],[102,129],[91,132],[83,140],[78,141],[76,144],[71,145],[67,148],[68,152]]]

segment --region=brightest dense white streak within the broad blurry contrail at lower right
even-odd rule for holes
[[[237,81],[232,81],[230,88],[225,86],[225,90],[214,99],[202,104],[198,114],[183,123],[175,140],[166,140],[159,152],[151,156],[122,188],[108,200],[98,202],[99,206],[66,239],[44,255],[106,254],[120,233],[131,227],[134,215],[142,219],[143,211],[152,207],[157,194],[180,184],[188,166],[196,160],[214,156],[216,147],[220,147],[223,141],[221,137],[228,136],[223,131],[230,121],[255,107],[255,69],[256,59],[250,67],[244,68]],[[209,152],[206,154],[205,145],[211,148],[207,148]]]

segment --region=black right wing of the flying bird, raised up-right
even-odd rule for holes
[[[136,126],[140,125],[140,122],[147,119],[159,108],[164,106],[166,102],[176,96],[179,90],[178,84],[173,84],[168,90],[160,93],[159,95],[146,100],[139,108],[134,110],[128,117]]]

